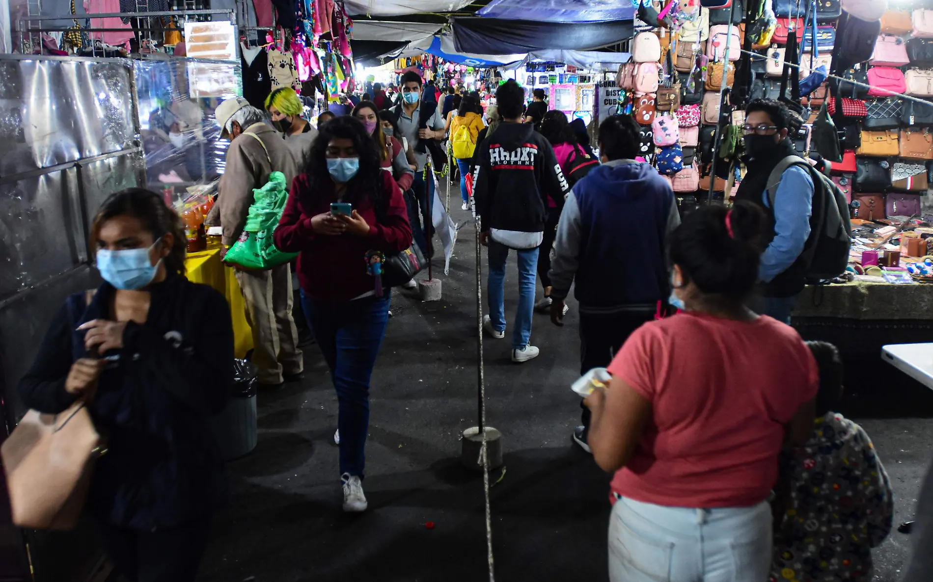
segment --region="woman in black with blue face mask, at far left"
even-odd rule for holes
[[[54,316],[20,395],[48,413],[81,399],[106,437],[88,508],[118,570],[191,581],[227,496],[207,427],[233,381],[230,308],[185,278],[184,231],[155,192],[104,201],[91,245],[104,284]]]

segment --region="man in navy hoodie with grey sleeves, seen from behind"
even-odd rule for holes
[[[576,279],[581,375],[608,366],[671,293],[667,242],[680,215],[667,180],[635,161],[639,144],[631,116],[606,118],[599,126],[603,164],[574,185],[558,223],[549,272],[550,320],[564,325],[564,299]],[[590,452],[585,407],[582,420],[574,440]]]

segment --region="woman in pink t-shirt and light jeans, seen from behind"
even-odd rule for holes
[[[790,326],[745,307],[764,215],[707,206],[671,238],[671,303],[640,327],[592,410],[590,447],[615,472],[613,582],[762,582],[771,561],[777,456],[814,419],[813,355]]]

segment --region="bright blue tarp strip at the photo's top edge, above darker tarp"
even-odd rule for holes
[[[478,16],[511,21],[606,22],[631,21],[631,2],[619,0],[492,0]]]

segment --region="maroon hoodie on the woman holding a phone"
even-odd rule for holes
[[[337,201],[334,183],[322,180],[322,187],[312,192],[307,173],[292,182],[285,211],[273,239],[275,246],[298,257],[298,278],[301,289],[318,301],[349,301],[375,288],[375,281],[366,272],[366,252],[398,253],[411,246],[411,226],[402,191],[390,172],[380,172],[385,219],[376,223],[376,213],[369,196],[357,197],[354,204],[369,224],[369,235],[357,237],[316,235],[311,217],[330,212],[330,203]],[[354,184],[351,182],[351,187]]]

